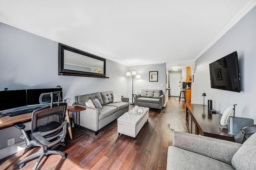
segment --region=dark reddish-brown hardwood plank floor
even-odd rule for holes
[[[85,129],[86,134],[75,140],[66,135],[66,147],[59,146],[56,150],[66,153],[66,159],[59,155],[45,156],[38,168],[41,170],[165,170],[167,149],[172,145],[172,132],[188,132],[185,123],[186,107],[184,102],[168,98],[166,107],[161,112],[150,109],[148,122],[138,133],[136,140],[126,135],[118,137],[117,121],[113,121],[99,131]],[[76,131],[74,131],[76,132]],[[73,134],[76,135],[76,134]],[[1,170],[18,169],[18,160],[40,147],[21,150],[16,154],[0,160]],[[24,170],[32,169],[35,160],[25,164]]]

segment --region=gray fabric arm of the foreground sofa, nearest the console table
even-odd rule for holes
[[[232,165],[232,157],[242,146],[242,144],[174,131],[172,146],[195,152]]]

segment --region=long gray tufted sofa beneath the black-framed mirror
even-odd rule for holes
[[[98,92],[93,94],[85,94],[75,96],[73,106],[85,107],[86,110],[80,111],[80,125],[87,129],[91,129],[98,135],[98,130],[114,121],[129,109],[129,98],[123,98],[122,102],[113,103],[113,91]],[[86,107],[85,102],[97,98],[102,105],[102,109],[98,110],[92,107]],[[73,115],[76,120],[76,115]]]

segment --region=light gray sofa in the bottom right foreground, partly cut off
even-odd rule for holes
[[[173,132],[167,170],[255,170],[256,133],[244,144]]]

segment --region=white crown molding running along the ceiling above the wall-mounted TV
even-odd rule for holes
[[[212,45],[214,45],[223,35],[225,35],[238,21],[240,21],[252,8],[256,6],[256,0],[249,0],[241,10],[225,25],[217,36],[193,59],[196,61],[201,55],[203,55]]]

